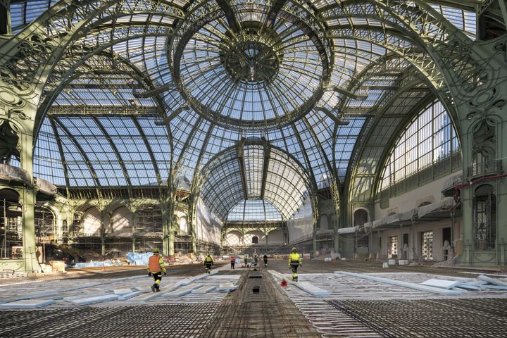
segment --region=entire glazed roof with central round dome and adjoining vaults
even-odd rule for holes
[[[54,4],[11,1],[13,32]],[[375,1],[152,5],[119,2],[124,13],[91,18],[100,29],[63,52],[43,93],[35,176],[190,190],[206,172],[201,195],[221,219],[245,200],[287,219],[311,189],[346,179],[361,134],[414,68],[393,54],[419,50],[394,18],[373,14]],[[472,8],[434,8],[475,35]]]

